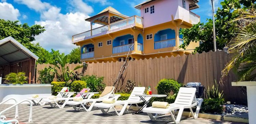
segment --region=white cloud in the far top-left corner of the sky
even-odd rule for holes
[[[14,8],[12,4],[0,2],[0,18],[5,20],[12,20],[16,21],[18,20],[18,17],[20,16],[19,10],[17,8]]]

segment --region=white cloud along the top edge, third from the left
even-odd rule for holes
[[[82,12],[85,14],[90,14],[93,12],[93,7],[87,5],[82,0],[70,0],[70,4],[73,6],[71,10],[75,12]]]

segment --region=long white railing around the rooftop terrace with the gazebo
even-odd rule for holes
[[[80,33],[80,34],[76,34],[76,35],[72,36],[73,37],[72,42],[82,41],[82,40],[84,40],[84,39],[86,39],[87,37],[90,37],[90,36],[94,36],[94,35],[97,35],[97,34],[100,34],[100,33],[104,33],[104,32],[107,32],[107,31],[111,31],[111,30],[114,30],[114,29],[119,29],[119,28],[122,28],[124,26],[134,24],[135,23],[135,18],[136,18],[136,23],[139,23],[139,24],[142,25],[143,20],[142,20],[141,17],[132,16],[130,18],[123,19],[123,20],[111,23],[109,25],[104,25],[104,26],[101,26],[99,28],[96,28],[96,29],[93,29],[93,30],[90,30],[90,31],[86,31],[86,32],[83,32],[83,33]]]

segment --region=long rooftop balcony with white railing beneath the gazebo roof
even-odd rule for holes
[[[141,25],[141,28],[142,28],[142,22],[143,22],[143,20],[141,17],[132,16],[130,18],[123,19],[123,20],[111,23],[109,25],[104,25],[104,26],[101,26],[99,28],[96,28],[96,29],[93,29],[90,31],[76,34],[76,35],[72,36],[72,43],[79,42],[79,41],[86,40],[86,39],[93,38],[93,37],[97,37],[97,36],[101,36],[104,34],[109,34],[109,33],[116,32],[116,31],[128,29],[128,28],[136,26],[136,24]]]

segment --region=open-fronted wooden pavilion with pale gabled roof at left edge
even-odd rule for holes
[[[34,84],[35,62],[38,58],[13,37],[6,37],[0,40],[0,77],[4,78],[10,72],[25,72],[28,83]]]

